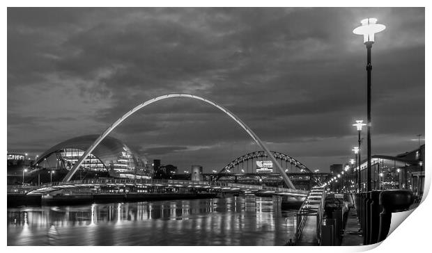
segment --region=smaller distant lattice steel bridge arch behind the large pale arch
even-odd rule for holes
[[[299,168],[301,172],[313,173],[313,172],[311,172],[311,170],[309,170],[309,168],[306,167],[306,165],[304,165],[303,163],[300,163],[300,161],[295,160],[295,158],[292,158],[291,156],[288,156],[287,154],[283,154],[281,152],[275,152],[275,151],[270,151],[270,152],[272,153],[272,156],[274,158],[279,159],[281,161],[286,161],[286,162],[289,161],[289,163],[291,163],[292,165],[295,165],[295,167]],[[231,161],[231,163],[228,163],[224,168],[222,168],[222,170],[219,171],[219,174],[224,173],[224,172],[229,171],[229,170],[232,170],[233,168],[235,168],[237,165],[239,165],[241,163],[247,162],[249,160],[257,159],[257,158],[262,158],[262,157],[268,157],[268,154],[262,150],[244,154],[244,155],[239,156],[238,158],[234,159],[233,161]]]

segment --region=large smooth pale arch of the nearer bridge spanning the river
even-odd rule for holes
[[[272,153],[270,152],[270,149],[268,149],[268,147],[264,145],[264,143],[261,141],[261,139],[258,136],[256,136],[256,134],[252,131],[252,129],[249,129],[249,126],[247,126],[244,122],[242,122],[242,120],[240,120],[236,115],[234,115],[233,113],[231,113],[230,111],[228,111],[223,106],[220,106],[219,104],[216,104],[215,102],[210,101],[208,99],[204,99],[203,97],[198,97],[198,96],[195,96],[195,95],[184,94],[184,93],[168,94],[168,95],[162,95],[160,97],[155,97],[153,99],[145,101],[142,104],[139,104],[138,106],[135,106],[130,111],[128,111],[128,113],[125,113],[118,120],[116,120],[116,122],[114,122],[113,124],[111,124],[111,126],[109,126],[98,137],[98,139],[96,139],[95,142],[93,142],[93,144],[90,147],[88,147],[88,149],[86,150],[86,152],[84,152],[84,154],[78,159],[77,163],[75,163],[75,165],[70,170],[70,172],[68,172],[68,174],[65,176],[65,178],[63,179],[63,181],[69,181],[72,178],[72,176],[75,174],[75,172],[77,172],[77,169],[82,164],[82,162],[84,161],[84,159],[88,156],[88,154],[90,154],[93,151],[93,149],[95,149],[95,147],[97,147],[99,145],[99,143],[105,137],[107,137],[109,133],[111,133],[111,131],[113,131],[119,124],[121,124],[121,122],[123,122],[123,120],[126,120],[130,115],[134,114],[136,111],[139,111],[139,109],[144,108],[145,106],[148,106],[149,104],[153,104],[156,101],[160,101],[160,100],[163,100],[163,99],[170,99],[170,98],[173,98],[173,97],[188,97],[188,98],[192,98],[192,99],[198,99],[198,100],[206,102],[207,104],[215,106],[220,111],[223,111],[226,115],[229,115],[229,117],[231,117],[237,124],[239,124],[242,127],[242,129],[244,129],[249,134],[249,136],[251,136],[252,139],[254,139],[254,141],[265,151],[265,153],[268,154],[268,156],[270,157],[270,159],[272,159],[272,162],[275,163],[275,164],[277,164],[277,169],[279,170],[279,173],[281,174],[282,178],[284,179],[284,181],[286,183],[286,186],[288,186],[288,188],[295,189],[295,186],[293,185],[293,183],[291,182],[291,180],[288,178],[288,176],[284,172],[284,169],[281,167],[281,165],[279,163],[277,163],[276,158],[274,156],[272,156]]]

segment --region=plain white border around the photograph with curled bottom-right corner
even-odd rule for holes
[[[266,1],[5,1],[5,8],[1,10],[1,17],[3,17],[3,26],[1,26],[3,30],[3,35],[7,34],[7,9],[6,6],[293,6],[293,7],[304,7],[304,6],[346,6],[346,7],[365,7],[365,6],[380,6],[380,7],[422,7],[426,6],[426,31],[430,28],[430,17],[431,12],[429,8],[431,7],[430,1],[274,1],[274,0],[266,0]],[[430,30],[430,29],[429,29]],[[429,50],[430,35],[426,32],[426,70],[430,70],[429,59],[431,56],[431,52]],[[7,41],[6,39],[1,40],[2,46],[2,68],[1,71],[3,73],[3,85],[1,85],[1,103],[3,108],[3,118],[6,117],[7,113],[7,103],[6,103],[6,94],[7,94]],[[426,72],[426,83],[430,84],[430,71]],[[430,97],[431,88],[429,85],[425,85],[426,97]],[[431,101],[426,99],[426,112],[430,112],[431,110]],[[431,129],[431,117],[426,113],[426,132],[425,136],[429,136]],[[2,125],[3,140],[7,138],[7,124]],[[3,149],[3,154],[7,153],[6,141],[1,143],[1,147]],[[426,150],[429,147],[426,145]],[[426,152],[426,160],[430,161],[430,153]],[[6,159],[5,159],[6,160]],[[429,163],[425,163],[426,168],[426,183],[428,190],[431,185],[431,173],[428,171],[430,166]],[[3,161],[3,165],[5,161]],[[6,177],[3,179],[5,189],[3,193],[6,192]],[[426,191],[426,190],[425,190]],[[6,203],[6,195],[3,195],[3,203]],[[5,210],[6,211],[6,210]],[[381,243],[379,247],[376,247],[373,251],[379,252],[427,252],[429,246],[429,241],[431,240],[431,197],[426,197],[424,202],[412,212],[408,218],[406,218],[405,222],[394,231],[386,240]],[[0,219],[3,225],[3,229],[5,231],[2,235],[3,245],[6,247],[6,219]],[[251,252],[262,252],[265,250],[272,251],[283,251],[283,252],[309,252],[319,250],[320,252],[350,252],[350,251],[364,251],[366,248],[369,250],[374,246],[369,247],[104,247],[104,248],[94,248],[94,247],[6,247],[6,250],[9,251],[24,251],[31,250],[34,252],[54,252],[54,251],[94,251],[94,250],[103,250],[108,252],[118,252],[119,250],[148,250],[148,251],[187,251],[187,252],[216,252],[221,250],[228,250],[232,252],[239,252],[240,250],[247,250]]]

